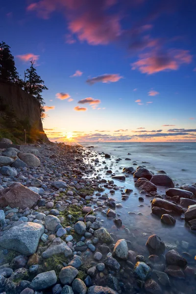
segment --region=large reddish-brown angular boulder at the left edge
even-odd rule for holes
[[[0,206],[31,208],[40,199],[40,195],[30,191],[19,183],[14,183],[6,189],[0,191]]]

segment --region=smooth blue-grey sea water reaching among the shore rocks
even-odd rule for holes
[[[106,168],[111,169],[117,175],[122,174],[124,167],[131,167],[133,163],[137,163],[146,166],[155,174],[159,170],[164,170],[179,186],[185,183],[196,183],[196,143],[83,143],[82,145],[85,147],[94,146],[94,148],[89,148],[91,156],[85,157],[85,161],[95,168],[90,178],[96,178],[99,175],[101,178],[111,180],[111,174],[106,173]],[[109,153],[111,158],[105,159],[101,152]],[[127,155],[128,152],[131,155]],[[96,158],[99,160],[98,163],[95,162]],[[116,161],[118,158],[122,160]],[[131,160],[125,160],[125,158]],[[111,194],[111,189],[108,188],[105,188],[105,191],[101,193],[101,195],[107,194],[116,201],[116,204],[122,205],[121,208],[116,208],[116,212],[117,218],[123,221],[124,227],[117,228],[113,219],[106,217],[107,208],[103,208],[103,210],[98,208],[97,196],[94,196],[95,204],[92,206],[96,210],[97,219],[101,221],[102,226],[113,233],[114,243],[119,239],[128,240],[131,242],[129,249],[135,251],[136,254],[144,255],[147,259],[150,255],[146,247],[147,239],[150,235],[157,234],[164,241],[166,252],[170,249],[176,249],[187,259],[188,266],[196,271],[196,231],[190,229],[188,223],[184,221],[183,215],[181,217],[174,216],[176,220],[174,226],[163,224],[160,218],[151,214],[150,200],[153,197],[140,194],[140,189],[135,188],[133,175],[127,175],[124,182],[114,181],[119,187],[119,190],[116,190],[114,194]],[[126,188],[132,189],[133,193],[124,201],[122,195]],[[165,190],[164,187],[158,187],[157,192],[164,195]],[[144,198],[144,202],[139,201],[139,196]],[[88,259],[87,262],[89,262]],[[121,281],[126,285],[126,290],[123,292],[125,294],[146,293],[142,289],[138,292],[133,291],[133,285],[136,285],[136,281],[131,273],[130,279],[121,277]],[[171,288],[167,289],[162,286],[162,293],[196,293],[196,280],[191,276],[186,276],[184,279],[170,276],[170,281]]]

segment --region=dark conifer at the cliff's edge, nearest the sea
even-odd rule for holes
[[[31,60],[30,63],[30,68],[27,69],[24,74],[23,88],[25,92],[34,96],[40,102],[41,117],[44,118],[45,102],[41,94],[44,90],[48,90],[48,88],[44,85],[44,81],[37,74],[37,71],[34,67],[35,61]]]

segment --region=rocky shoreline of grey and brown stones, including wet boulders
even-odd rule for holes
[[[138,200],[149,197],[153,215],[171,227],[180,216],[194,230],[195,184],[178,189],[163,171],[154,175],[144,166],[115,174],[106,166],[111,156],[93,147],[35,144],[0,151],[0,293],[183,294],[182,285],[195,293],[194,257],[168,250],[157,235],[146,238],[145,249],[134,246],[116,211],[122,205],[112,198],[119,191],[126,201],[132,190],[115,181],[133,175]],[[99,166],[110,180],[99,175]],[[157,187],[166,187],[165,195]],[[99,213],[113,220],[116,234]],[[127,238],[119,239],[118,231]]]

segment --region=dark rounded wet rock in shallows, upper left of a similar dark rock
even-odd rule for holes
[[[151,254],[162,254],[165,252],[165,244],[157,235],[152,235],[148,238],[146,246]]]

